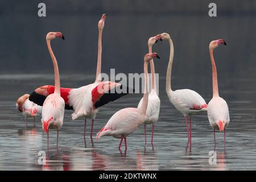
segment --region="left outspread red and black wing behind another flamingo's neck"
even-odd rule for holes
[[[50,94],[54,93],[54,89],[55,87],[52,85],[40,86],[30,94],[30,97],[28,99],[39,106],[43,106],[46,98]],[[60,94],[65,101],[65,109],[67,110],[73,110],[73,107],[69,105],[69,99],[68,99],[69,93],[71,92],[71,90],[72,90],[71,88],[60,88]]]

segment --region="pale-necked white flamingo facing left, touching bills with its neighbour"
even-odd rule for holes
[[[170,58],[166,73],[166,93],[177,110],[184,115],[185,125],[187,127],[188,142],[191,143],[191,117],[192,115],[198,114],[201,111],[207,111],[207,104],[200,94],[190,89],[181,89],[173,91],[171,89],[171,72],[172,72],[172,61],[174,60],[174,44],[169,34],[163,33],[156,36],[157,40],[168,40],[170,43]],[[190,132],[188,129],[187,118],[190,120]]]

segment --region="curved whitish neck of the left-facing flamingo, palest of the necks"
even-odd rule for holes
[[[170,43],[170,57],[169,57],[169,63],[167,67],[167,73],[166,73],[166,92],[167,94],[170,92],[171,89],[171,74],[172,74],[172,61],[174,60],[174,43],[172,43],[172,39],[168,39]]]

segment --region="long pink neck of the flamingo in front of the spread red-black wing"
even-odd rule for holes
[[[50,44],[50,40],[47,40],[47,48],[49,50],[49,53],[51,55],[52,58],[52,63],[53,63],[53,68],[54,68],[54,79],[55,79],[55,89],[54,89],[54,93],[60,94],[60,75],[59,75],[59,68],[58,68],[58,64],[57,64],[57,60],[52,52],[52,48],[51,48],[51,44]]]

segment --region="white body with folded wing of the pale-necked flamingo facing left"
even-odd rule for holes
[[[175,90],[172,94],[172,103],[181,109],[201,110],[207,104],[200,94],[190,89]]]

